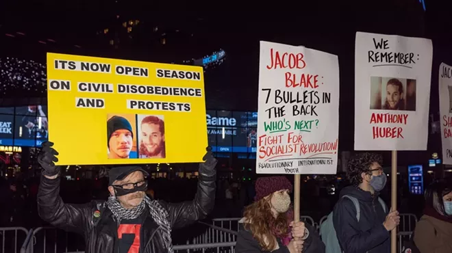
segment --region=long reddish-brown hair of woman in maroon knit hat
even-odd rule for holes
[[[277,244],[275,238],[286,237],[290,232],[288,213],[279,213],[276,218],[273,217],[270,203],[262,198],[245,208],[244,228],[251,231],[262,250],[271,252]]]

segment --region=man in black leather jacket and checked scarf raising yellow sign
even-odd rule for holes
[[[146,196],[148,176],[138,166],[112,168],[108,201],[65,204],[60,191],[58,152],[53,143],[42,144],[38,162],[42,177],[38,191],[40,217],[53,226],[79,232],[86,238],[86,253],[173,252],[171,230],[203,219],[215,202],[216,159],[211,148],[199,164],[198,191],[194,200],[178,204]]]

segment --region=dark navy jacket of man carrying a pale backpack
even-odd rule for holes
[[[356,219],[356,208],[348,195],[360,202],[360,222]],[[388,215],[373,196],[359,187],[349,186],[340,191],[340,198],[333,211],[333,224],[340,247],[344,253],[388,253],[391,251],[390,232],[383,226]],[[388,210],[388,208],[386,208]]]

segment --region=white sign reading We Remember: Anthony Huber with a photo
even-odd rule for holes
[[[431,40],[357,32],[355,150],[426,150]]]

